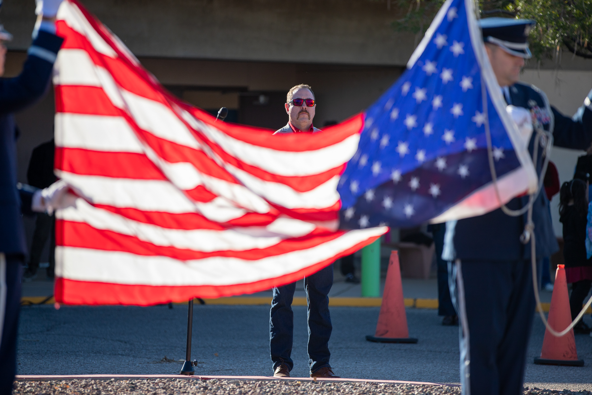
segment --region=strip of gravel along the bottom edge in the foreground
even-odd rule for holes
[[[149,394],[149,395],[398,395],[398,394],[461,394],[458,386],[416,386],[387,383],[343,383],[327,381],[252,381],[252,380],[187,380],[165,378],[157,380],[63,380],[63,381],[17,381],[13,395],[28,394]],[[524,394],[581,394],[590,391],[558,391],[525,388]]]

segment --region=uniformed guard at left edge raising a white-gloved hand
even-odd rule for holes
[[[61,0],[37,1],[33,44],[20,75],[0,78],[0,394],[12,392],[17,365],[18,312],[21,303],[22,264],[27,243],[17,192],[17,128],[13,113],[43,96],[49,86],[53,63],[62,46],[56,36],[56,14]],[[0,2],[1,4],[1,2]],[[0,25],[0,75],[4,74],[12,36]]]

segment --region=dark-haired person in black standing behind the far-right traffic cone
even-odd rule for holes
[[[580,313],[584,298],[592,285],[592,259],[587,258],[585,239],[588,216],[588,188],[581,179],[561,185],[559,192],[559,221],[563,224],[565,276],[571,282],[571,319]],[[580,320],[575,333],[590,333],[590,327]]]

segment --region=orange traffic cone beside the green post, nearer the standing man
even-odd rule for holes
[[[391,252],[388,262],[387,281],[384,284],[378,325],[374,336],[366,336],[366,340],[379,343],[417,343],[417,339],[409,337],[407,314],[403,302],[403,285],[401,285],[401,269],[397,251]]]

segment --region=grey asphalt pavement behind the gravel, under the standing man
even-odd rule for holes
[[[458,383],[458,327],[443,327],[436,310],[407,309],[417,344],[381,344],[377,307],[332,307],[331,364],[349,378]],[[588,322],[590,317],[586,317]],[[171,374],[185,357],[186,305],[25,306],[18,339],[18,374]],[[271,375],[269,306],[195,305],[192,359],[197,374]],[[535,317],[526,366],[530,387],[592,390],[592,338],[577,335],[584,367],[532,364],[544,327]],[[294,307],[295,365],[307,377],[305,307]],[[172,362],[170,362],[173,360]]]

